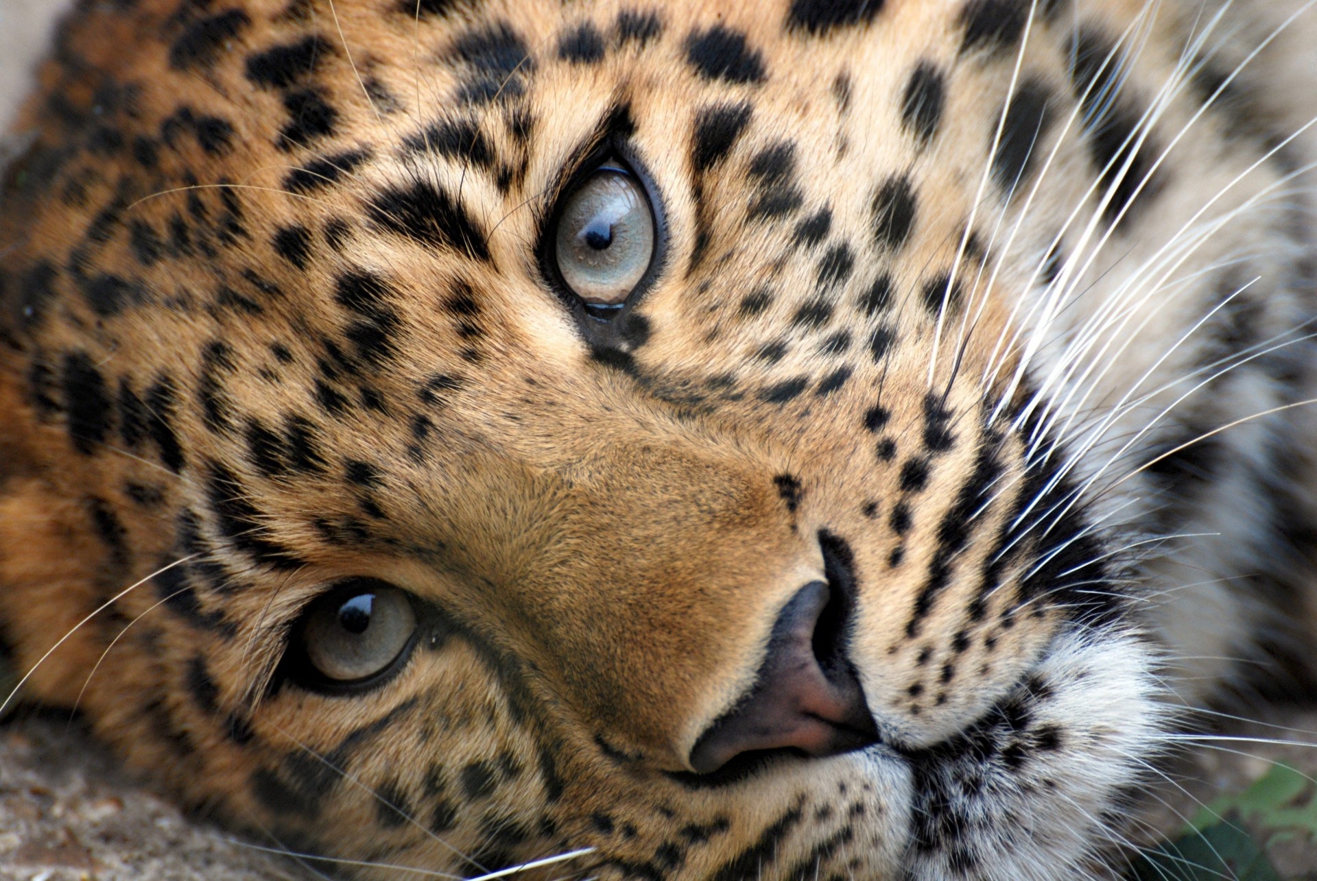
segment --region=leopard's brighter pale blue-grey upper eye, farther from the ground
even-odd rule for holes
[[[564,204],[554,246],[562,280],[586,306],[620,307],[655,253],[644,188],[623,169],[601,167]]]

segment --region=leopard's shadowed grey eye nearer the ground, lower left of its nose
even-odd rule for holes
[[[331,685],[363,683],[396,666],[415,643],[407,594],[373,578],[353,578],[313,601],[299,639],[306,661]]]

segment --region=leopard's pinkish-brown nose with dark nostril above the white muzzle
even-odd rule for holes
[[[738,756],[793,749],[835,756],[877,743],[877,728],[846,658],[848,599],[827,583],[801,587],[777,616],[755,685],[699,736],[698,773]]]

